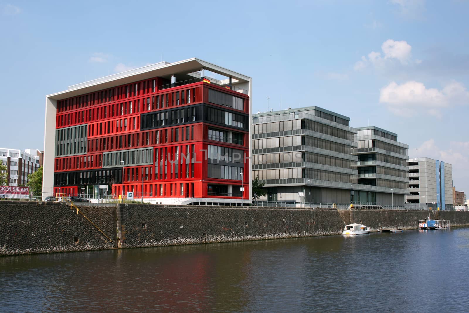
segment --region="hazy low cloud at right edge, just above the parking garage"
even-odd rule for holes
[[[440,149],[434,139],[424,141],[417,149],[409,150],[410,158],[431,158],[449,163],[457,191],[469,191],[469,141],[452,141],[446,150]]]

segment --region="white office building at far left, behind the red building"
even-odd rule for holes
[[[25,186],[28,175],[36,172],[41,166],[42,153],[37,149],[0,148],[0,162],[7,166],[9,186]]]

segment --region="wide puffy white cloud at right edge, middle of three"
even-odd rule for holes
[[[439,115],[442,107],[469,103],[469,92],[463,84],[451,82],[442,90],[426,88],[423,83],[408,81],[404,84],[391,82],[381,88],[379,102],[386,104],[395,114],[408,115],[423,109],[431,115]]]

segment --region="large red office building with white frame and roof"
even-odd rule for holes
[[[46,96],[43,191],[246,203],[251,86],[248,76],[193,58]]]

